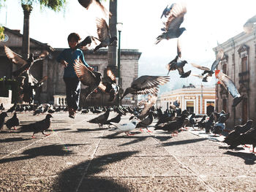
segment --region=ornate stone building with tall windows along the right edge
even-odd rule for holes
[[[227,125],[234,126],[256,120],[256,31],[251,34],[241,32],[226,42],[214,47],[215,53],[222,49],[225,53],[222,63],[217,69],[222,70],[233,80],[244,100],[232,107],[233,97],[222,85],[216,86],[217,110],[230,112]]]

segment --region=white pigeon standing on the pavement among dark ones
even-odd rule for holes
[[[139,120],[138,118],[134,117],[132,118],[132,121],[129,123],[123,123],[123,124],[116,124],[112,123],[113,126],[116,126],[116,128],[109,129],[109,131],[116,131],[118,133],[125,133],[128,136],[133,135],[130,133],[130,131],[134,130],[138,124]]]

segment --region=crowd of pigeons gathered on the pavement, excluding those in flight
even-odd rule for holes
[[[178,132],[187,130],[187,126],[194,128],[195,130],[205,130],[207,134],[218,134],[224,135],[224,142],[230,146],[230,149],[236,148],[238,145],[253,145],[253,152],[256,145],[256,128],[253,127],[253,121],[247,120],[244,125],[237,125],[234,128],[226,128],[225,122],[230,118],[230,113],[213,112],[208,117],[198,117],[195,113],[190,114],[189,111],[182,111],[178,105],[170,105],[170,110],[155,109],[154,102],[157,96],[148,96],[148,101],[141,102],[144,106],[141,107],[87,107],[86,109],[79,109],[81,114],[94,113],[100,114],[96,118],[89,120],[89,123],[96,123],[99,128],[108,126],[109,131],[116,131],[116,134],[125,133],[128,136],[133,135],[131,131],[136,128],[154,127],[154,130],[167,131],[172,137],[176,136]],[[5,111],[3,104],[0,105],[0,131],[5,126],[12,131],[14,128],[15,132],[31,131],[33,132],[32,138],[35,138],[34,134],[41,132],[45,136],[44,131],[48,131],[50,128],[50,119],[53,118],[53,113],[67,112],[67,107],[53,107],[50,104],[29,105],[29,104],[14,104],[9,110]],[[12,118],[5,121],[6,117],[12,114]],[[20,125],[18,119],[19,112],[32,112],[33,115],[44,115],[44,119],[34,123]],[[110,112],[116,112],[114,118],[109,119]],[[9,115],[8,115],[9,114]],[[121,123],[122,116],[130,115],[128,123]],[[154,121],[155,119],[155,121]],[[18,127],[19,126],[19,127]],[[18,127],[18,129],[17,129]]]

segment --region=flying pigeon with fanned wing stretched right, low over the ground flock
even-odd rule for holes
[[[124,98],[128,93],[135,94],[157,94],[158,86],[165,85],[166,82],[170,81],[168,76],[150,76],[143,75],[138,77],[132,82],[132,85],[124,91],[121,99]]]

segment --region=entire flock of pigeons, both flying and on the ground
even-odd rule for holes
[[[100,9],[103,10],[103,12],[105,12],[105,15],[111,15],[111,13],[108,12],[105,9],[105,7],[102,6],[102,4],[100,4],[99,0],[78,1],[86,9],[89,9],[91,4],[96,4],[100,7]],[[186,13],[187,7],[185,4],[172,4],[170,7],[167,6],[165,8],[161,16],[161,18],[163,16],[165,18],[164,27],[161,29],[163,32],[159,35],[159,37],[157,37],[156,44],[161,42],[162,39],[168,40],[181,37],[181,34],[183,34],[183,32],[186,30],[185,28],[180,28],[181,23],[184,20],[184,15]],[[251,20],[247,21],[247,23],[244,26],[245,31],[252,31],[252,28],[254,27],[253,23],[255,22],[256,17],[251,18]],[[248,23],[252,23],[252,25]],[[99,50],[99,48],[107,47],[117,40],[116,37],[110,36],[108,24],[104,18],[97,19],[97,33],[98,37],[86,37],[86,39],[84,39],[83,42],[81,42],[78,45],[78,47],[88,46],[91,44],[91,42],[95,42],[96,40],[98,40],[100,43],[97,45],[97,47],[94,48],[95,52]],[[34,59],[33,54],[30,55],[29,59],[24,59],[20,55],[12,52],[12,50],[10,50],[9,47],[4,47],[4,49],[7,54],[7,57],[10,58],[13,63],[20,65],[20,69],[18,69],[18,71],[16,72],[13,72],[14,76],[19,76],[26,70],[29,70],[31,65],[34,64],[35,61],[37,61],[37,59]],[[197,64],[192,64],[192,66],[195,66],[198,69],[203,70],[202,74],[197,75],[197,77],[203,79],[203,82],[207,82],[208,77],[212,77],[212,74],[215,73],[215,76],[219,80],[218,83],[222,84],[227,89],[228,93],[230,93],[230,95],[233,96],[233,107],[236,107],[236,105],[244,98],[244,96],[241,96],[238,93],[238,90],[233,81],[230,79],[230,77],[228,77],[226,74],[223,74],[222,72],[215,70],[218,64],[222,62],[223,55],[223,50],[219,50],[219,52],[217,53],[216,60],[211,66],[211,69],[208,69],[205,66],[198,66]],[[42,58],[42,56],[39,56],[39,59],[40,58]],[[189,77],[191,71],[184,72],[183,67],[185,64],[187,64],[187,61],[181,60],[181,45],[179,44],[179,41],[177,41],[177,55],[176,58],[174,58],[173,61],[170,61],[170,63],[167,65],[168,74],[170,71],[174,71],[177,69],[178,73],[181,75],[181,78]],[[118,85],[116,85],[116,77],[113,74],[113,72],[109,70],[107,78],[108,80],[102,82],[102,75],[99,72],[89,70],[86,66],[84,66],[81,63],[81,61],[75,61],[74,69],[83,85],[88,86],[87,93],[84,96],[85,99],[88,98],[88,96],[93,91],[99,88],[105,93],[110,94],[110,101],[113,101],[119,90]],[[29,75],[29,77],[34,80],[34,77],[32,77],[31,74]],[[121,106],[103,107],[102,109],[93,110],[91,107],[88,107],[87,109],[81,110],[81,113],[87,113],[89,111],[104,112],[97,118],[89,120],[89,123],[97,123],[99,124],[99,127],[102,127],[104,125],[113,126],[113,128],[110,129],[111,131],[116,131],[118,133],[124,132],[127,135],[130,135],[130,131],[134,130],[135,128],[148,129],[148,126],[150,126],[151,123],[153,123],[154,118],[158,119],[157,123],[154,126],[155,130],[168,131],[170,132],[170,134],[173,135],[178,134],[178,131],[181,131],[188,125],[192,126],[193,128],[204,128],[206,130],[206,133],[211,132],[213,134],[223,134],[225,131],[227,131],[227,128],[225,127],[225,121],[230,117],[230,114],[225,113],[223,111],[220,113],[212,113],[209,117],[205,115],[200,120],[196,120],[195,114],[189,114],[187,110],[181,111],[181,109],[178,108],[178,106],[171,105],[171,109],[166,110],[165,112],[162,112],[161,109],[155,110],[154,104],[157,101],[159,85],[164,85],[169,81],[169,76],[144,75],[138,77],[136,80],[132,82],[131,86],[127,88],[126,91],[124,91],[124,94],[123,96],[121,96],[121,99],[123,99],[124,96],[126,96],[128,93],[148,94],[147,101],[142,102],[142,105],[144,106],[143,110],[141,110],[138,107],[132,109],[131,107]],[[37,82],[34,80],[34,83]],[[34,115],[49,112],[49,114],[46,115],[45,119],[40,120],[36,123],[31,123],[29,125],[20,127],[20,129],[33,131],[32,137],[34,137],[34,134],[37,134],[38,132],[42,132],[42,134],[45,134],[44,131],[50,127],[50,118],[53,118],[53,116],[50,115],[50,113],[58,112],[61,110],[61,108],[52,109],[49,104],[41,104],[36,109],[34,109],[33,107],[29,107],[28,109],[26,105],[20,106],[18,108],[18,104],[15,104],[15,106],[12,107],[12,110],[16,112],[14,113],[13,117],[8,119],[6,122],[6,126],[10,130],[12,127],[15,128],[15,126],[19,126],[17,118],[18,109],[23,109],[24,111],[26,111],[26,109],[33,110]],[[108,120],[110,111],[112,110],[117,112],[118,115],[115,118]],[[0,114],[1,130],[4,127],[4,119],[8,116],[7,112],[1,112]],[[121,115],[126,115],[127,113],[130,113],[132,115],[129,123],[120,123]],[[255,128],[252,127],[252,120],[248,120],[244,126],[236,126],[235,131],[232,131],[230,132],[230,134],[227,135],[225,142],[228,145],[230,145],[231,148],[241,144],[253,145],[253,147],[255,147],[255,133],[256,130]]]

